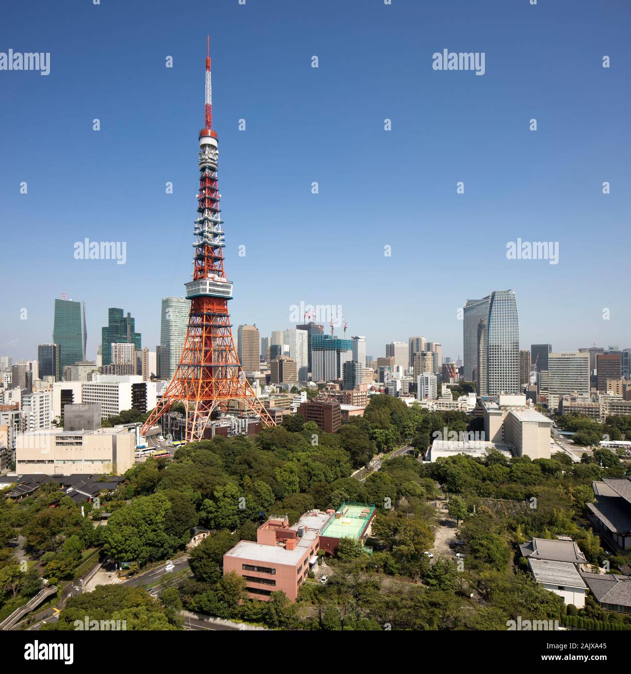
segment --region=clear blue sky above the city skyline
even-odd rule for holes
[[[35,357],[62,292],[88,357],[107,307],[155,348],[190,279],[207,32],[235,326],[341,305],[371,355],[422,334],[455,358],[458,307],[513,288],[526,348],[630,346],[630,25],[626,0],[10,3],[0,51],[51,73],[0,71],[0,355]],[[433,70],[443,49],[485,75]],[[85,237],[127,263],[74,259]],[[559,264],[506,259],[517,237]]]

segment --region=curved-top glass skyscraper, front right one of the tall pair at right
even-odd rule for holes
[[[519,386],[519,319],[513,290],[493,290],[487,318],[489,396],[516,394]]]

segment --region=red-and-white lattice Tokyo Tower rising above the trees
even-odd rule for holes
[[[217,189],[217,133],[213,130],[211,96],[211,57],[208,42],[206,57],[206,105],[204,128],[199,132],[199,194],[193,243],[192,281],[186,283],[190,299],[190,317],[184,350],[167,390],[144,423],[144,435],[169,412],[176,402],[186,408],[186,441],[204,437],[213,417],[229,410],[240,415],[248,412],[265,425],[274,426],[269,412],[250,386],[234,346],[228,300],[232,283],[223,270],[224,233],[219,217]]]

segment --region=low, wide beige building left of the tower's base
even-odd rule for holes
[[[48,429],[18,435],[16,472],[123,474],[134,465],[135,436],[123,427]]]

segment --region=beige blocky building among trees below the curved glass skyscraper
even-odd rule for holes
[[[514,446],[515,456],[549,459],[552,420],[526,406],[526,396],[500,395],[485,402],[485,440]]]

